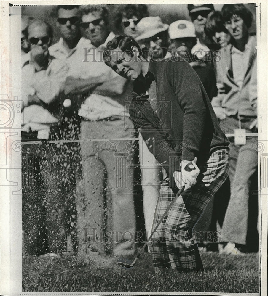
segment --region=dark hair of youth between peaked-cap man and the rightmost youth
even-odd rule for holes
[[[228,30],[224,26],[224,20],[220,11],[210,12],[205,24],[204,31],[208,38],[210,38],[212,41],[212,37],[215,36],[216,32],[228,33]]]

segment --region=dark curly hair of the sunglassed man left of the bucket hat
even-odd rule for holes
[[[115,26],[117,29],[121,28],[122,17],[125,16],[130,19],[135,15],[139,20],[143,17],[148,17],[148,7],[146,4],[124,4],[119,12],[115,15]]]

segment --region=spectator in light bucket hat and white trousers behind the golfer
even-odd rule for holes
[[[168,25],[163,24],[160,17],[144,17],[137,25],[138,36],[135,40],[141,45],[144,58],[159,61],[164,59],[168,46]],[[150,94],[149,94],[150,96]],[[151,98],[152,107],[157,110],[155,99]],[[153,102],[154,100],[154,102]],[[147,238],[151,235],[154,212],[163,181],[162,168],[154,155],[147,148],[139,133],[139,160],[141,165],[141,186],[143,191],[143,212]],[[149,165],[149,167],[148,167]],[[145,168],[146,166],[146,168]],[[150,249],[148,247],[148,252]]]

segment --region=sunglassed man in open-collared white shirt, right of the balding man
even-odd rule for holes
[[[82,62],[85,55],[84,48],[89,51],[93,47],[88,39],[81,37],[82,11],[79,5],[58,5],[55,9],[55,17],[61,38],[57,43],[50,46],[50,54],[68,65],[69,70],[66,73],[66,81],[68,81],[69,77],[79,79],[83,73],[88,71],[86,63]],[[68,85],[68,82],[66,84]],[[64,91],[66,90],[66,84]],[[84,97],[78,93],[74,95],[66,94],[64,98],[70,99],[72,104],[71,107],[64,109],[63,118],[60,124],[54,128],[52,138],[53,140],[77,140],[79,139],[81,123],[78,109]],[[81,147],[77,142],[69,142],[61,145],[57,152],[58,155],[62,156],[59,165],[65,165],[59,170],[65,176],[65,186],[61,189],[61,194],[65,195],[64,209],[67,209],[65,214],[68,214],[68,223],[66,223],[67,248],[69,251],[76,251],[76,185],[81,178]],[[56,198],[55,193],[52,193],[52,196]]]

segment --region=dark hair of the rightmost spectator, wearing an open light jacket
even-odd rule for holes
[[[247,28],[250,28],[253,15],[251,11],[245,7],[242,3],[237,4],[224,4],[224,6],[221,9],[221,13],[223,16],[224,22],[229,21],[233,15],[239,15]]]

